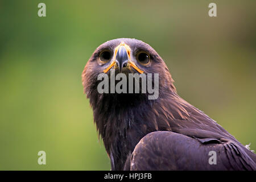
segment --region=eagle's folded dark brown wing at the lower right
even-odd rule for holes
[[[217,164],[209,163],[209,151],[216,152]],[[135,147],[130,169],[255,170],[256,166],[255,159],[232,140],[192,138],[172,131],[155,131],[143,137]]]

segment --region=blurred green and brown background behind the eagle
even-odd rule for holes
[[[46,17],[38,17],[40,2]],[[110,169],[81,72],[94,49],[115,38],[150,44],[179,95],[256,150],[255,5],[0,0],[0,169]],[[37,163],[40,150],[46,165]]]

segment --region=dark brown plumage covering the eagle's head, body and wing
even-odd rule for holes
[[[130,47],[130,59],[138,70],[159,73],[159,97],[148,93],[97,92],[97,76],[112,67],[114,50],[121,43]],[[110,61],[100,53],[108,50]],[[146,52],[150,63],[140,64],[138,52]],[[131,66],[125,73],[136,73]],[[115,39],[102,44],[82,72],[84,92],[93,109],[94,122],[111,160],[112,170],[255,170],[256,155],[176,93],[168,68],[158,53],[136,39]],[[217,164],[208,162],[216,151]]]

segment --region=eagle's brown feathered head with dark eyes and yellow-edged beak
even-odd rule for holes
[[[175,86],[173,84],[172,77],[168,71],[166,64],[163,59],[158,55],[158,53],[148,44],[137,39],[114,39],[105,42],[99,46],[96,51],[93,52],[92,56],[85,65],[84,71],[82,72],[82,84],[84,85],[84,93],[87,97],[95,100],[95,97],[99,98],[106,96],[98,93],[98,84],[101,82],[99,79],[100,75],[107,75],[111,78],[111,73],[118,75],[122,73],[126,76],[126,90],[127,92],[113,93],[108,87],[110,94],[115,95],[118,98],[118,102],[127,101],[127,99],[140,100],[141,97],[146,99],[148,94],[147,89],[143,94],[142,85],[139,85],[139,94],[134,91],[135,86],[133,86],[133,92],[129,93],[129,81],[131,78],[129,74],[152,76],[152,82],[154,86],[154,76],[158,75],[158,86],[159,94],[164,90],[164,92],[176,92]],[[130,79],[130,80],[129,80]],[[134,77],[133,77],[134,79]],[[122,80],[119,78],[119,80]],[[118,84],[118,80],[114,81],[115,85]],[[139,83],[141,84],[141,79]],[[110,80],[109,80],[110,84]],[[127,93],[127,94],[126,94]],[[101,94],[101,93],[100,93]],[[97,95],[97,96],[96,96]],[[108,97],[108,96],[106,96]],[[130,102],[133,102],[130,100]],[[91,102],[93,106],[93,102]]]

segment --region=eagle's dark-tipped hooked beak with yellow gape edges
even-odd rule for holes
[[[122,69],[125,67],[133,67],[139,73],[143,73],[143,71],[139,69],[137,65],[133,63],[133,61],[131,61],[130,55],[131,55],[131,48],[127,44],[121,42],[121,44],[119,44],[115,48],[114,59],[112,63],[109,65],[108,68],[104,69],[103,72],[107,73],[110,68],[112,68],[114,65],[117,65],[120,73],[122,72]]]

